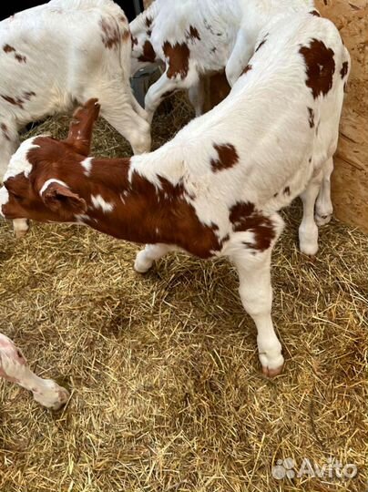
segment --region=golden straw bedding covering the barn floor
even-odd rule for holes
[[[155,146],[189,118],[155,120]],[[63,135],[68,118],[36,128]],[[129,153],[104,122],[95,153]],[[365,492],[368,237],[333,221],[314,261],[297,249],[299,203],[273,255],[284,373],[260,373],[256,333],[226,261],[171,254],[146,276],[138,247],[83,227],[0,222],[0,331],[38,374],[72,390],[53,414],[0,384],[4,492]],[[351,480],[276,479],[329,457]],[[280,470],[280,469],[279,469]]]

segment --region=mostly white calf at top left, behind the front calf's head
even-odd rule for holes
[[[135,153],[149,150],[130,53],[127,17],[111,0],[51,0],[0,22],[0,182],[20,128],[91,97]],[[15,223],[17,235],[26,230],[25,220]]]

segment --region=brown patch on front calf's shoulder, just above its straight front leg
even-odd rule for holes
[[[254,250],[268,250],[276,237],[271,219],[262,215],[249,201],[238,201],[233,205],[229,210],[229,220],[234,232],[253,232],[254,242],[244,244]]]

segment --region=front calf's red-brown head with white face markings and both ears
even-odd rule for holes
[[[75,113],[65,140],[34,137],[24,141],[10,159],[0,189],[0,215],[5,219],[77,221],[87,210],[73,188],[83,179],[81,163],[88,155],[99,112],[90,99]]]

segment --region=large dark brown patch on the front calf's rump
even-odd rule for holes
[[[302,46],[299,52],[306,64],[306,85],[311,88],[314,99],[326,96],[332,88],[335,71],[332,49],[327,48],[322,41],[312,39],[311,45]]]

